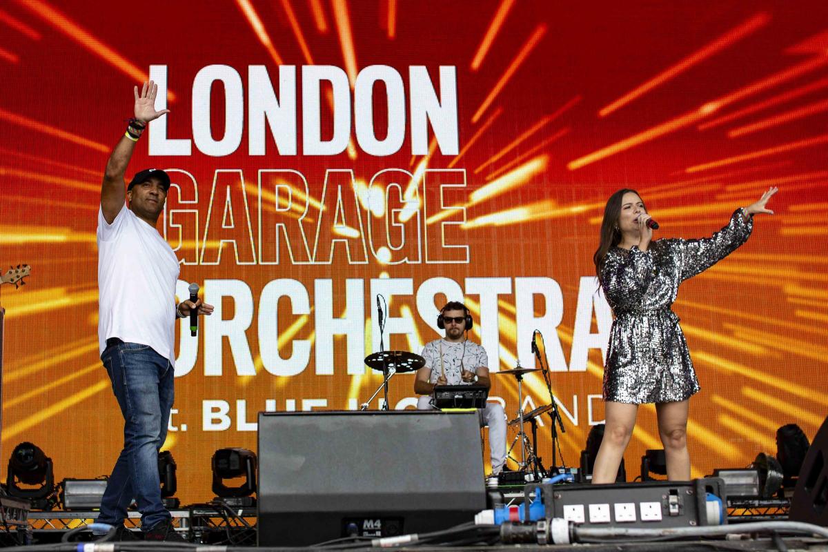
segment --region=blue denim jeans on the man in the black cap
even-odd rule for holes
[[[115,462],[98,521],[118,526],[135,498],[141,526],[148,530],[170,519],[161,502],[158,451],[166,439],[175,373],[170,361],[148,345],[119,343],[101,354],[123,414],[123,450]]]

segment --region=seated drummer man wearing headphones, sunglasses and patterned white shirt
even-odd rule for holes
[[[427,343],[422,349],[426,365],[417,370],[414,380],[414,392],[422,395],[417,401],[418,410],[434,408],[431,393],[436,385],[477,383],[491,389],[486,349],[468,340],[472,324],[469,310],[459,301],[449,301],[440,310],[437,327],[445,329],[445,337]],[[497,402],[487,402],[479,413],[481,425],[489,426],[492,475],[498,475],[506,461],[506,414]]]

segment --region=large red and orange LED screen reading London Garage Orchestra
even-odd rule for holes
[[[378,347],[378,292],[392,317],[387,348],[419,353],[437,338],[447,297],[465,297],[469,337],[487,346],[492,371],[518,358],[533,366],[540,330],[564,409],[563,458],[575,465],[604,418],[609,317],[591,257],[604,202],[621,187],[640,191],[662,238],[710,235],[780,187],[776,214],[758,217],[749,242],[683,284],[674,305],[701,383],[692,471],[775,454],[774,431],[789,422],[812,437],[828,406],[826,16],[818,1],[4,2],[0,261],[27,262],[32,274],[19,290],[2,286],[2,458],[29,440],[60,479],[108,474],[118,455],[123,420],[98,358],[96,215],[132,86],[151,66],[166,67],[167,140],[193,141],[194,111],[214,141],[242,129],[223,156],[195,143],[189,155],[151,155],[142,137],[128,170],[171,171],[159,228],[183,262],[181,289],[195,281],[220,307],[199,338],[181,338],[190,360],[178,361],[166,449],[184,502],[212,496],[215,449],[256,448],[258,411],[368,398],[381,377],[359,359]],[[225,110],[232,102],[215,80],[209,110],[204,97],[193,107],[196,75],[211,65],[238,74],[243,104]],[[253,65],[267,68],[281,100],[277,65],[296,66],[296,155],[277,150],[270,127],[265,154],[249,151]],[[351,118],[345,151],[308,155],[305,65],[339,68],[351,85],[368,66],[392,68],[405,94],[402,147],[369,154]],[[431,127],[431,148],[412,149],[410,106],[422,100],[412,98],[412,66],[425,66],[442,100],[440,66],[454,68],[456,153]],[[310,129],[323,139],[335,132],[332,106],[354,110],[353,89],[344,106],[329,89]],[[378,140],[386,105],[378,84]],[[411,375],[393,377],[391,406],[411,407],[412,387]],[[539,374],[523,392],[527,410],[549,401]],[[493,376],[491,395],[516,415],[513,377]],[[655,410],[643,406],[629,469],[660,447]],[[335,470],[336,458],[325,461]]]

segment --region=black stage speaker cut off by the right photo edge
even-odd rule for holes
[[[799,470],[793,491],[791,521],[828,527],[828,418],[822,422]]]

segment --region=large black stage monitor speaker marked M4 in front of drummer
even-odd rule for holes
[[[261,413],[258,545],[445,529],[486,508],[476,411]]]

